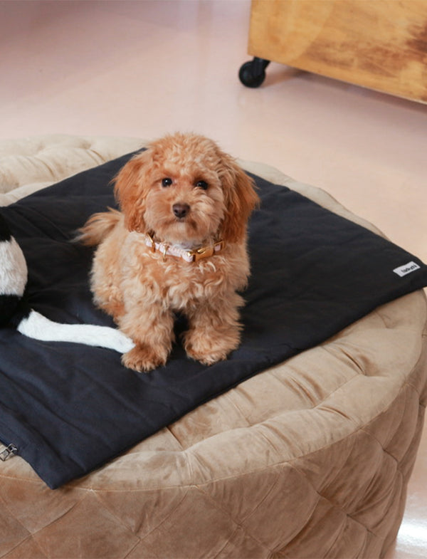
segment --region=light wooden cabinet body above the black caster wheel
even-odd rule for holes
[[[427,103],[427,0],[253,0],[248,51]]]

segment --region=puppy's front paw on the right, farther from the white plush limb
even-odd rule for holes
[[[225,360],[231,351],[238,348],[239,343],[240,336],[235,331],[229,338],[215,338],[191,330],[184,336],[186,354],[204,365]]]

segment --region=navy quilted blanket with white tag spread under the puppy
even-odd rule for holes
[[[0,209],[26,255],[29,302],[51,320],[112,325],[91,302],[93,250],[69,239],[90,214],[115,205],[111,179],[129,157]],[[146,375],[122,367],[112,350],[0,330],[0,441],[14,444],[51,488],[376,306],[427,286],[427,266],[415,256],[290,189],[254,178],[261,206],[250,224],[243,341],[227,361],[206,367],[177,344],[167,365]]]

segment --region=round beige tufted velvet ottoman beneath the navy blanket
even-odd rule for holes
[[[0,142],[0,204],[144,145]],[[329,195],[241,162],[359,224]],[[0,462],[2,558],[374,558],[396,537],[426,404],[423,291],[381,306],[51,490]]]

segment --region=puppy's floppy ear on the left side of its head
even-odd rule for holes
[[[145,189],[144,167],[151,160],[147,151],[129,160],[115,177],[115,197],[125,216],[125,226],[129,231],[144,233]]]

